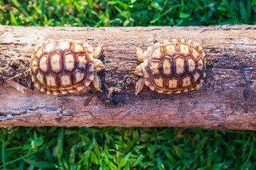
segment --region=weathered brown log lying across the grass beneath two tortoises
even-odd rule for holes
[[[201,42],[213,62],[200,91],[134,95],[135,47],[168,39]],[[48,96],[30,86],[33,45],[59,39],[104,44],[103,92]],[[141,126],[256,130],[256,26],[60,28],[0,26],[0,127]],[[15,77],[16,76],[16,77]],[[30,89],[21,93],[12,80]]]

